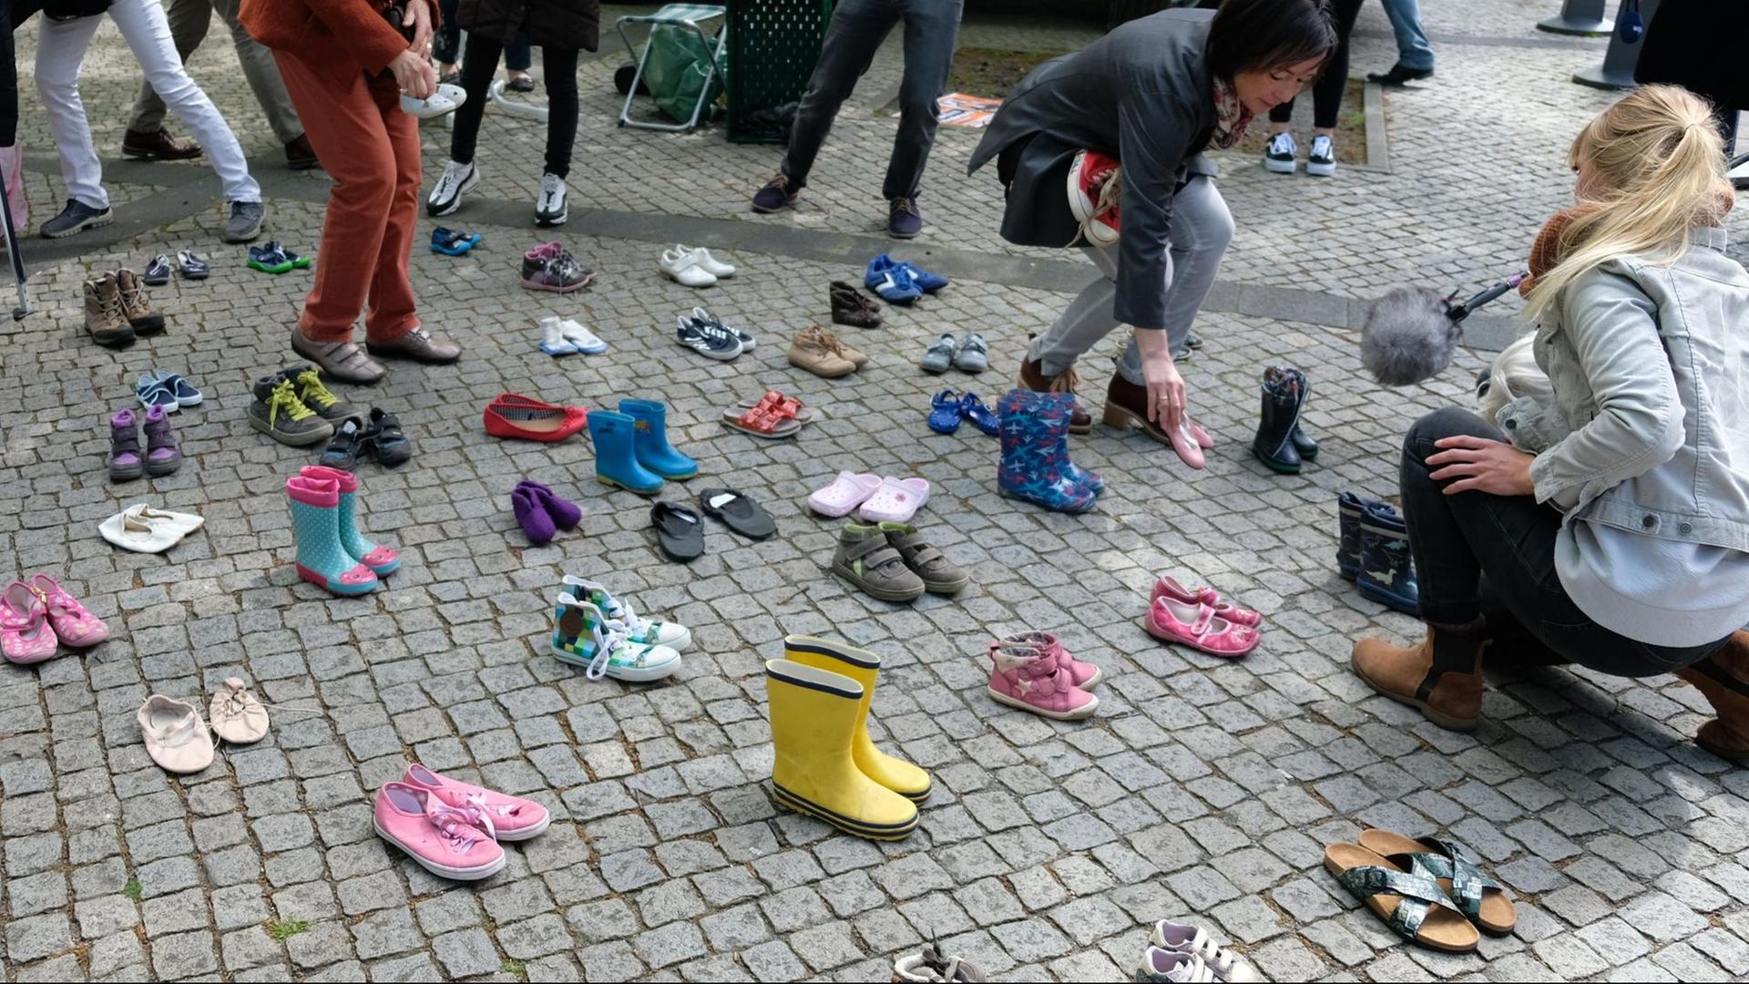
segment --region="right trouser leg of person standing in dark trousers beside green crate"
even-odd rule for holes
[[[916,198],[936,144],[937,100],[953,67],[962,0],[904,2],[904,81],[899,82],[899,135],[892,142],[881,198]]]

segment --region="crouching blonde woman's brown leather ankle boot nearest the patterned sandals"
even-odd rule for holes
[[[1441,637],[1436,641],[1436,636]],[[1487,643],[1480,630],[1436,634],[1429,625],[1418,646],[1361,639],[1348,662],[1373,690],[1420,707],[1441,728],[1467,732],[1481,718],[1481,648]]]

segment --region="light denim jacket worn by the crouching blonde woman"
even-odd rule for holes
[[[1725,229],[1690,243],[1576,280],[1536,334],[1555,404],[1515,399],[1497,420],[1564,524],[1749,552],[1749,271]]]

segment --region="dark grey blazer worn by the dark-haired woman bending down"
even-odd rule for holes
[[[1065,247],[1079,233],[1067,196],[1076,151],[1123,161],[1114,306],[1123,324],[1165,326],[1172,196],[1189,175],[1216,173],[1202,158],[1214,131],[1212,23],[1214,11],[1161,11],[1039,65],[997,110],[967,170],[1000,154],[1002,238]]]

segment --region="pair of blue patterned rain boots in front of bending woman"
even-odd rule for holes
[[[997,403],[1002,417],[1002,464],[997,488],[1058,513],[1084,513],[1095,492],[1086,473],[1069,460],[1069,415],[1074,396],[1013,389]],[[1074,471],[1070,471],[1074,469]]]

